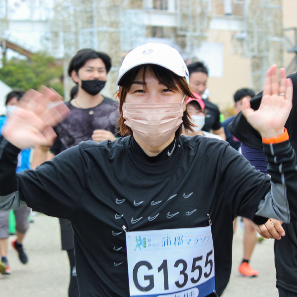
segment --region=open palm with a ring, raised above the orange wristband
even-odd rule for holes
[[[279,83],[276,65],[273,65],[267,71],[263,96],[258,110],[250,108],[247,99],[243,100],[243,115],[263,138],[282,135],[292,109],[292,81],[286,78],[285,69],[280,69],[280,77],[281,81]]]

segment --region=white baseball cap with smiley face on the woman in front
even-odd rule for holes
[[[125,73],[144,64],[155,64],[167,68],[178,76],[185,77],[189,84],[189,71],[180,53],[164,44],[148,43],[131,50],[125,56],[119,70],[117,85]]]

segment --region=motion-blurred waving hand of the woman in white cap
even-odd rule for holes
[[[8,116],[2,135],[18,148],[37,144],[50,146],[56,137],[52,127],[69,113],[68,107],[53,90],[42,87],[40,92],[29,90]]]

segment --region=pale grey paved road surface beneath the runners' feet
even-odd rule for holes
[[[25,239],[29,263],[22,265],[9,247],[11,275],[0,275],[0,297],[67,297],[68,259],[61,251],[58,219],[46,215],[34,217]],[[12,239],[12,237],[11,237]],[[233,246],[231,280],[223,297],[278,297],[275,288],[273,241],[257,244],[251,266],[257,278],[243,278],[237,273],[242,257],[242,234],[238,228]]]

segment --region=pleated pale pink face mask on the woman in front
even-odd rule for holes
[[[183,122],[185,97],[173,103],[124,103],[124,124],[148,146],[158,147],[168,141]]]

